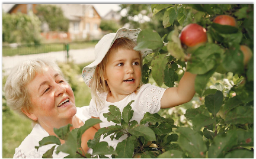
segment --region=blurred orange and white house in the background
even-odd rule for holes
[[[36,11],[37,4],[15,4],[9,9],[9,14],[22,12],[28,14],[29,11]],[[81,4],[50,4],[62,8],[63,14],[69,20],[68,33],[50,31],[47,24],[42,24],[41,35],[47,40],[58,38],[60,40],[98,40],[103,35],[101,34],[100,22],[101,17],[93,5]]]

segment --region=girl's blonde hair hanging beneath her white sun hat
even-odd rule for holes
[[[92,76],[92,80],[91,80],[91,93],[92,93],[92,100],[94,100],[98,110],[100,110],[104,105],[104,99],[100,98],[99,95],[101,93],[110,91],[107,85],[107,82],[104,80],[105,66],[108,63],[108,57],[110,53],[118,51],[119,48],[133,50],[135,46],[137,46],[137,43],[133,40],[130,40],[129,38],[117,38],[116,41],[114,41],[111,48],[108,50],[104,59],[101,61],[100,64],[97,65],[94,76]],[[140,53],[140,51],[137,51],[137,53],[139,53],[140,55],[140,67],[142,69],[142,54]],[[140,79],[139,87],[140,86],[142,86],[141,79]],[[139,89],[139,87],[137,89]]]

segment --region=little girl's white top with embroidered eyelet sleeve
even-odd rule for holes
[[[157,87],[155,85],[151,85],[150,83],[145,84],[140,87],[137,92],[133,92],[130,95],[126,96],[123,100],[120,100],[119,102],[110,103],[107,102],[107,93],[102,93],[101,96],[103,96],[105,105],[100,111],[97,111],[96,105],[94,100],[91,100],[89,104],[89,115],[98,117],[101,119],[100,127],[104,128],[110,125],[116,125],[114,122],[108,122],[107,118],[104,118],[103,113],[107,113],[108,106],[114,105],[117,106],[117,108],[120,109],[120,112],[123,112],[123,108],[132,100],[135,100],[135,102],[132,103],[132,109],[134,111],[133,113],[133,120],[136,120],[138,123],[143,118],[146,112],[149,113],[156,113],[161,108],[161,98],[164,95],[166,89],[162,87]],[[120,124],[119,124],[120,125]],[[108,142],[108,145],[113,146],[116,149],[116,145],[118,142],[123,141],[123,139],[126,139],[127,137],[123,135],[123,137],[119,138],[119,140],[113,139],[111,141],[110,137],[107,136],[103,138],[103,135],[101,135],[100,141],[106,141]]]

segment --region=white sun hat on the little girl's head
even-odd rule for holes
[[[101,38],[100,41],[98,41],[94,50],[95,60],[88,66],[85,66],[82,70],[82,78],[84,79],[84,82],[88,87],[91,87],[91,80],[97,65],[101,63],[110,47],[113,45],[114,41],[117,38],[126,37],[136,42],[137,36],[139,35],[140,31],[142,30],[139,28],[133,30],[128,28],[120,28],[119,30],[117,30],[117,33],[106,34],[103,38]],[[142,58],[153,52],[151,49],[148,48],[140,51],[142,53]]]

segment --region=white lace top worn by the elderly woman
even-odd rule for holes
[[[82,122],[85,123],[87,119],[91,118],[88,115],[89,106],[83,106],[81,108],[77,107],[76,116],[81,119]],[[18,148],[15,148],[15,154],[13,158],[42,158],[43,154],[53,147],[56,144],[49,144],[40,147],[37,151],[35,146],[39,146],[39,141],[44,137],[49,136],[48,132],[46,132],[40,124],[36,124],[32,129],[31,133],[21,142]],[[55,151],[58,145],[55,147]],[[53,158],[63,158],[66,157],[68,154],[64,152],[59,152],[56,154],[55,151],[53,152]],[[89,153],[92,154],[91,148],[88,150]]]

